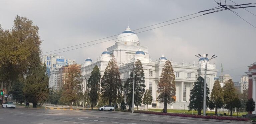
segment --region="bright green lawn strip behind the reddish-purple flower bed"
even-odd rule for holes
[[[148,109],[148,111],[149,111],[149,109]],[[157,112],[161,112],[162,111],[162,109],[150,109],[150,111],[157,111]],[[185,113],[185,114],[192,114],[192,110],[191,111],[188,111],[188,110],[184,110],[184,109],[182,109],[182,110],[178,110],[178,109],[167,109],[167,112],[168,113]],[[203,114],[203,111],[201,111],[201,113]],[[210,113],[212,113],[212,115],[214,115],[214,111],[206,111],[206,113],[208,114],[208,115],[210,115]],[[220,113],[220,114],[224,114],[224,113],[226,113],[226,115],[227,116],[229,116],[230,115],[230,112],[218,112],[218,113]],[[242,116],[242,114],[246,114],[247,112],[238,112],[238,116]],[[197,111],[195,111],[195,110],[193,110],[193,114],[197,114]],[[233,112],[233,116],[237,116],[237,113],[236,112]]]

